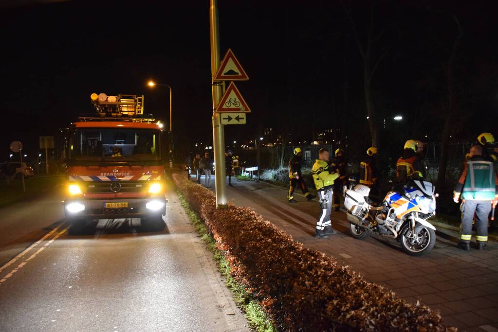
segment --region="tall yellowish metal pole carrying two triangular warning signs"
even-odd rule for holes
[[[218,27],[217,0],[211,0],[209,23],[211,33],[211,84],[213,90],[213,150],[215,157],[216,206],[227,207],[226,175],[225,175],[225,129],[221,124],[221,116],[214,112],[222,97],[222,88],[215,84],[214,78],[220,66],[220,30]]]

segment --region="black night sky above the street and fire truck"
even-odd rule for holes
[[[455,15],[463,34],[453,140],[498,135],[496,7],[398,2],[374,7],[374,33],[385,29],[373,48],[375,57],[385,53],[373,79],[381,116],[403,115],[400,140],[439,140]],[[93,111],[93,92],[144,94],[146,113],[167,120],[167,90],[148,88],[149,79],[173,89],[177,142],[212,141],[208,0],[18,3],[0,7],[0,161],[10,141],[34,154],[38,136]],[[362,60],[345,8],[365,40],[370,2],[219,0],[221,54],[231,48],[248,73],[237,86],[252,110],[247,125],[226,127],[227,142],[254,138],[260,125],[296,140],[340,128],[368,144]]]

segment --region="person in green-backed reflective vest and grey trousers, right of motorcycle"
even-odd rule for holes
[[[476,216],[477,249],[482,250],[488,241],[488,215],[492,203],[498,200],[498,177],[493,163],[483,157],[483,147],[474,145],[470,149],[471,158],[453,192],[453,200],[458,203],[462,197],[462,231],[458,247],[470,250],[472,220]]]

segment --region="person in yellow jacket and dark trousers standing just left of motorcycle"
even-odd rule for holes
[[[327,149],[320,149],[318,158],[311,168],[322,210],[316,223],[315,237],[328,238],[327,234],[337,233],[332,228],[330,214],[332,212],[332,187],[334,180],[339,177],[339,173],[334,172],[334,169],[329,166],[329,151]]]

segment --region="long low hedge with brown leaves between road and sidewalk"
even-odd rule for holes
[[[282,331],[446,331],[438,312],[405,303],[260,215],[179,174],[173,179],[243,283]]]

